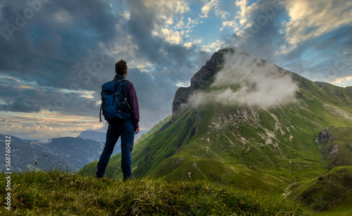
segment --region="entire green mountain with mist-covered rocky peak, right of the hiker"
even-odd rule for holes
[[[79,173],[93,174],[96,163]],[[218,51],[177,90],[172,116],[138,139],[132,169],[282,193],[316,211],[351,208],[352,88]],[[107,176],[122,177],[120,154]]]

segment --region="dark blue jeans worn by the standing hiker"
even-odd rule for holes
[[[109,124],[106,132],[106,142],[103,152],[100,155],[99,163],[96,166],[98,171],[96,177],[103,177],[106,166],[110,160],[113,148],[118,138],[121,136],[121,168],[123,179],[132,177],[131,152],[133,150],[134,127],[131,120],[126,120],[120,124]]]

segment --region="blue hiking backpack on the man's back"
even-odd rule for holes
[[[127,90],[122,86],[127,80],[106,82],[101,86],[101,114],[109,124],[120,123],[131,119],[131,107],[127,101]]]

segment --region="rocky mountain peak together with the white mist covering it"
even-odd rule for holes
[[[182,107],[186,108],[184,105],[189,102],[269,107],[294,101],[301,79],[301,76],[245,51],[222,49],[196,72],[190,87],[177,89],[171,122],[184,114],[186,109]]]

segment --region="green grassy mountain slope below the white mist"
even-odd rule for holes
[[[225,52],[218,53],[216,70],[220,70]],[[350,167],[351,89],[279,70],[291,75],[298,85],[295,101],[271,108],[207,103],[173,112],[170,121],[164,120],[135,144],[134,176],[168,181],[202,179],[282,193],[291,184],[317,179],[329,168]],[[217,90],[210,85],[212,82],[214,77],[207,82],[201,80],[198,91]],[[190,91],[192,86],[182,89]],[[329,128],[332,138],[318,142],[325,128]],[[108,165],[108,177],[121,177],[118,157]],[[92,164],[80,173],[93,173],[89,167]],[[303,192],[295,190],[290,195],[298,193]],[[351,190],[341,191],[343,196],[349,194]]]

